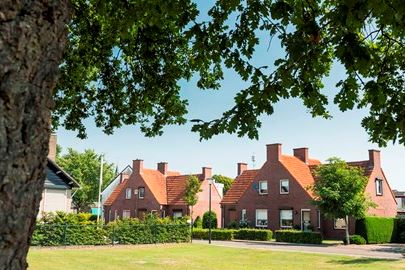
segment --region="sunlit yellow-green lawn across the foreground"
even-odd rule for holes
[[[404,260],[225,248],[201,244],[31,249],[30,270],[405,269]]]

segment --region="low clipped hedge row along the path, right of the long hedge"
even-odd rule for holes
[[[209,231],[207,229],[194,229],[194,239],[208,239]],[[213,229],[211,230],[212,240],[258,240],[258,241],[270,241],[273,236],[271,230],[258,230],[258,229]]]

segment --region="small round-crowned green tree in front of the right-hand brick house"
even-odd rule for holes
[[[367,209],[374,207],[364,193],[368,179],[361,168],[349,166],[344,160],[332,157],[327,161],[315,170],[314,203],[326,217],[345,218],[346,243],[350,244],[349,216],[363,218]]]

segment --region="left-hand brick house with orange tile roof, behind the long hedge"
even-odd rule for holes
[[[193,207],[193,218],[202,217],[208,211],[211,168],[203,167],[202,173],[195,175],[201,181],[202,191],[198,193],[198,202]],[[157,169],[152,170],[143,167],[143,160],[134,160],[132,173],[122,175],[120,183],[104,202],[105,222],[118,218],[142,218],[147,213],[156,213],[161,217],[190,215],[183,199],[188,176],[169,171],[166,162],[158,163]],[[221,199],[222,185],[213,183],[211,209],[217,217],[221,216]]]

